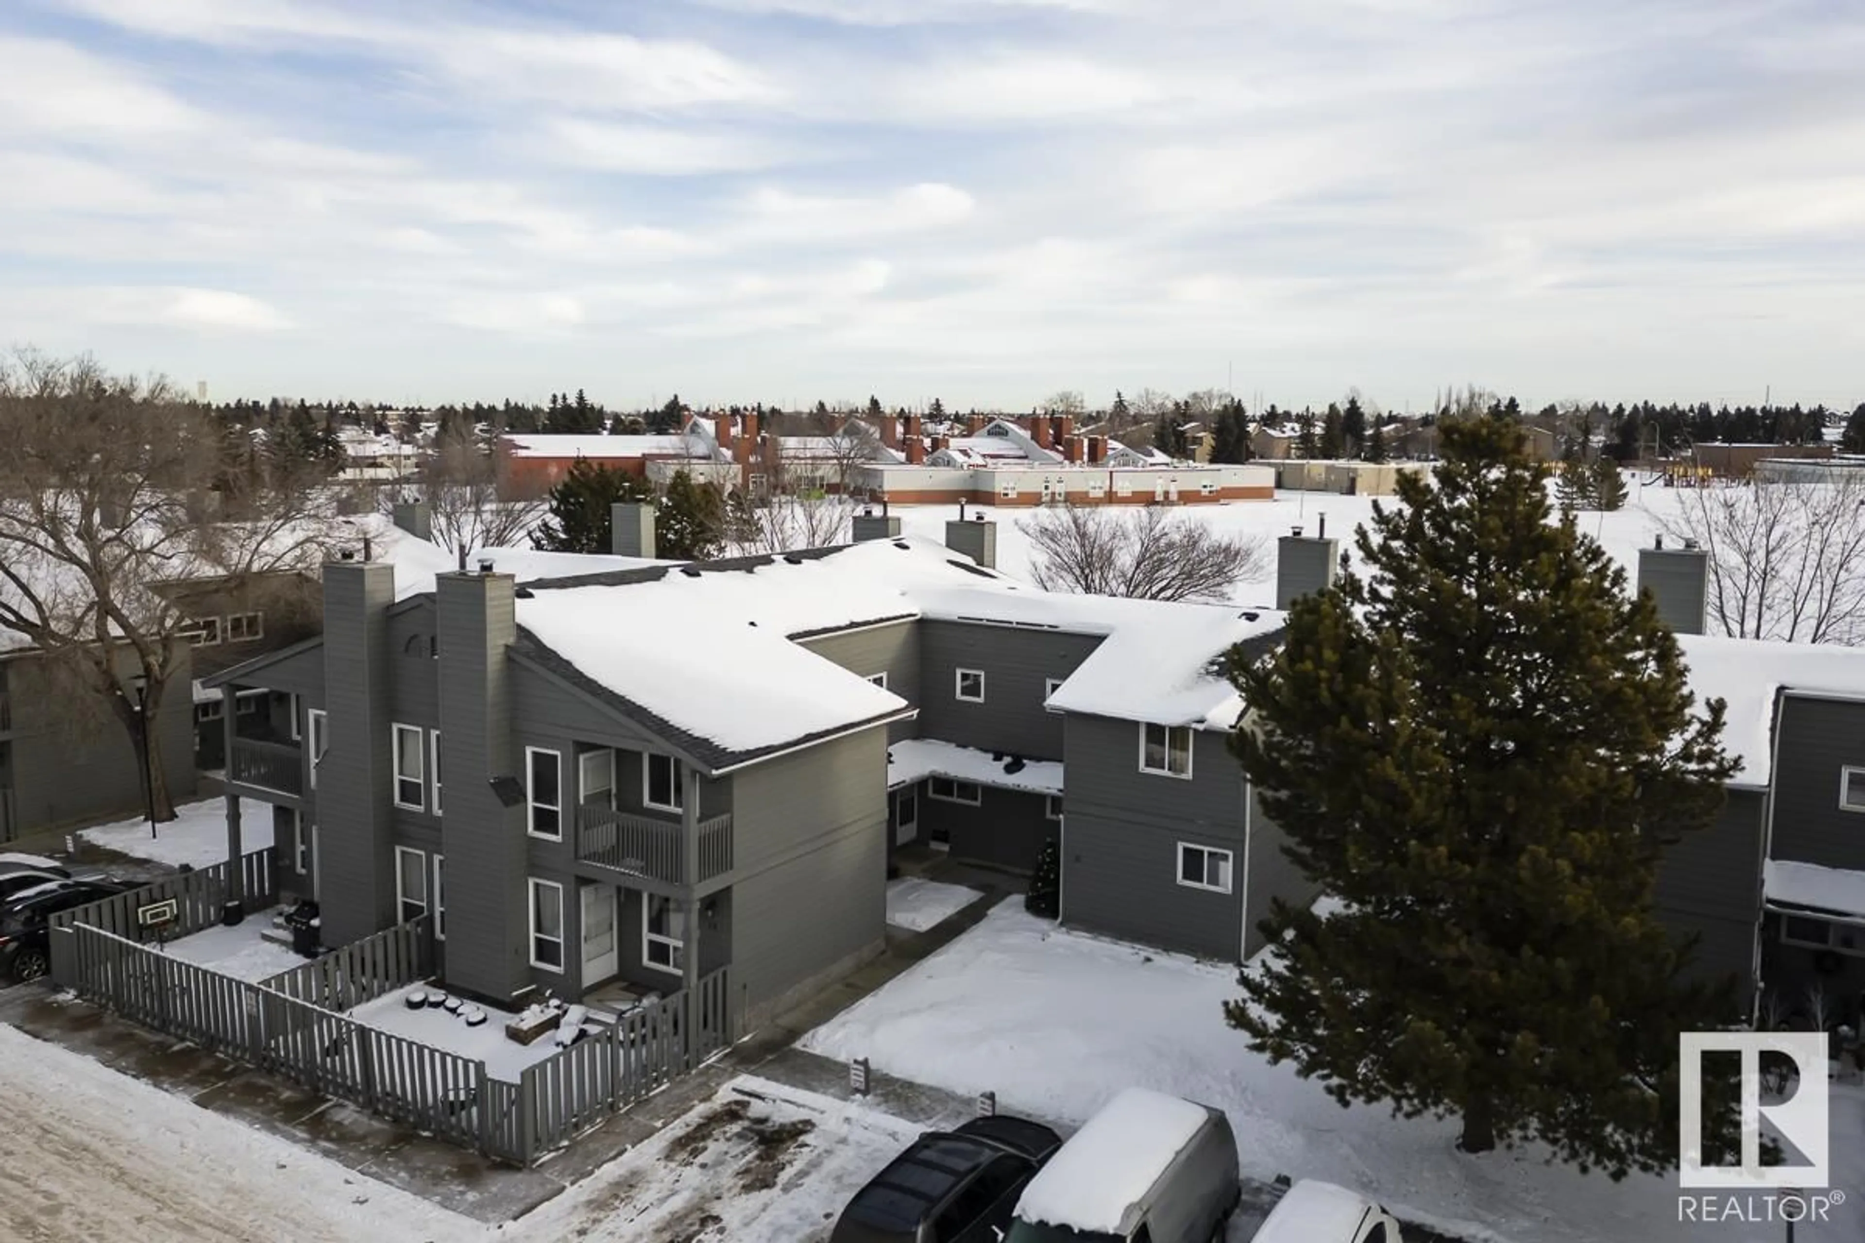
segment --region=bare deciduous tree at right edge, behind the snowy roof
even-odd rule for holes
[[[1688,488],[1658,527],[1710,555],[1710,622],[1740,639],[1865,643],[1865,479]]]

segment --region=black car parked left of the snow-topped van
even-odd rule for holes
[[[1041,1122],[1009,1116],[921,1135],[854,1193],[830,1243],[996,1243],[1059,1146]]]

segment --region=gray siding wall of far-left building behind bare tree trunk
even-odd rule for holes
[[[142,753],[116,714],[103,701],[73,710],[73,691],[50,678],[35,654],[13,656],[6,669],[13,732],[0,738],[11,740],[17,816],[11,835],[142,814]],[[123,662],[123,673],[129,673],[129,662]],[[194,697],[188,680],[190,665],[183,656],[155,714],[162,775],[177,803],[194,794]]]

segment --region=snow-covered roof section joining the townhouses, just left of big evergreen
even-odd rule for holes
[[[914,594],[923,617],[1104,635],[1100,647],[1048,697],[1061,712],[1153,725],[1227,731],[1244,703],[1212,662],[1236,643],[1264,645],[1283,628],[1276,609],[1167,604],[957,587]]]

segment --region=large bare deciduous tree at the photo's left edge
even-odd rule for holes
[[[101,704],[136,745],[183,667],[177,585],[254,593],[313,572],[334,537],[317,471],[224,436],[166,380],[0,360],[0,626],[86,691],[75,719]],[[147,747],[149,801],[172,820],[160,731]]]

